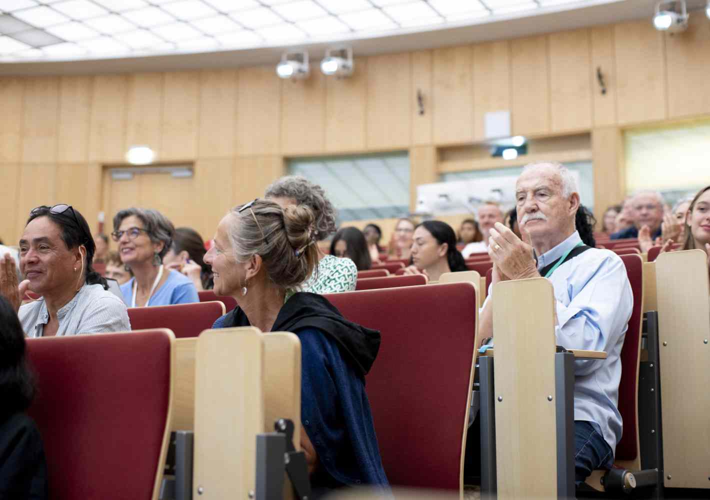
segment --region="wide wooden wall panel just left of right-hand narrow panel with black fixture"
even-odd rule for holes
[[[591,128],[589,30],[552,33],[550,50],[550,130]]]

